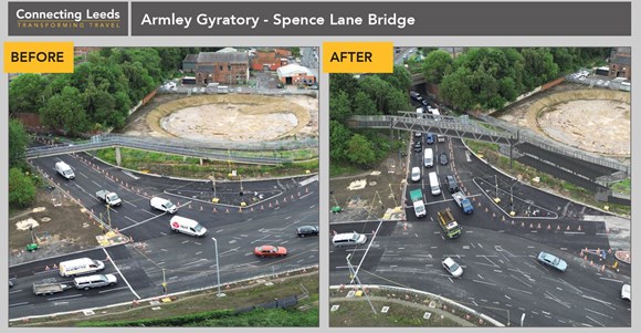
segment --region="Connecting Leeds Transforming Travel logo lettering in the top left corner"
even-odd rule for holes
[[[61,9],[57,11],[29,11],[19,9],[15,11],[18,28],[42,29],[42,28],[63,28],[63,29],[119,29],[120,12],[112,9],[111,11],[69,11]]]

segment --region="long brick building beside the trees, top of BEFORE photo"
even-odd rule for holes
[[[245,52],[188,54],[182,60],[182,71],[192,73],[196,84],[245,84],[250,79],[249,55]]]

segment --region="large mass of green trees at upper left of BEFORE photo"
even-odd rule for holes
[[[9,86],[10,113],[38,113],[43,125],[69,136],[119,128],[129,110],[171,77],[189,48],[105,48],[73,73],[23,74]]]

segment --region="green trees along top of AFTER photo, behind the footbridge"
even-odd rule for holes
[[[518,95],[605,62],[611,48],[472,48],[456,59],[435,50],[423,62],[429,83],[455,110],[501,108]]]

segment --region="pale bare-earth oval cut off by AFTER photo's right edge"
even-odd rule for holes
[[[585,150],[630,155],[630,104],[577,100],[542,110],[538,126],[550,138]]]

